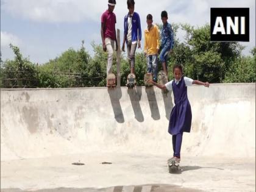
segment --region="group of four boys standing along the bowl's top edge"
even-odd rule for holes
[[[113,51],[116,43],[116,51],[118,43],[116,40],[116,16],[113,13],[116,1],[108,0],[108,9],[101,16],[101,38],[102,48],[108,53],[107,74],[112,73]],[[135,51],[141,48],[141,23],[140,16],[134,12],[134,0],[127,0],[127,9],[129,12],[124,16],[124,38],[122,51],[125,51],[125,43],[127,45],[127,57],[129,59],[130,73],[135,74]],[[144,55],[147,58],[147,73],[151,73],[153,80],[157,82],[158,73],[158,53],[159,60],[162,63],[163,71],[168,76],[167,59],[169,52],[174,47],[174,33],[171,24],[167,22],[168,13],[161,13],[163,28],[161,30],[161,45],[159,42],[158,27],[153,23],[153,17],[148,14],[146,22],[147,29],[144,30]],[[160,51],[161,50],[161,51]]]

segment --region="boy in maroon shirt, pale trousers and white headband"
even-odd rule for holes
[[[113,64],[113,50],[118,50],[118,44],[116,40],[116,15],[113,13],[115,9],[116,0],[108,0],[108,9],[101,16],[101,39],[102,48],[108,53],[107,60],[107,74],[112,73]]]

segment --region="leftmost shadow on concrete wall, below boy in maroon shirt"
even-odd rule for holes
[[[124,123],[124,115],[120,104],[120,99],[122,97],[121,87],[108,88],[108,95],[110,97],[110,102],[115,114],[115,119],[118,123]]]

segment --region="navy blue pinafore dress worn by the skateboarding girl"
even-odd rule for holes
[[[174,107],[171,111],[168,132],[171,135],[177,133],[190,132],[192,112],[190,102],[188,101],[187,86],[184,77],[180,79],[179,84],[172,81],[172,92],[174,94]]]

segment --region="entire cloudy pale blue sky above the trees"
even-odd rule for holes
[[[34,63],[46,63],[62,52],[79,49],[85,40],[85,49],[93,55],[91,43],[101,43],[101,15],[107,10],[107,0],[1,0],[1,54],[2,60],[13,59],[12,43]],[[146,15],[151,13],[153,23],[161,24],[162,10],[168,12],[169,23],[188,23],[203,26],[210,23],[211,7],[249,7],[250,41],[243,42],[244,55],[255,46],[255,0],[135,0],[141,29],[146,29]],[[116,0],[116,29],[121,31],[127,14],[126,0]],[[177,32],[183,41],[185,33]],[[144,36],[144,35],[143,35]],[[144,43],[144,37],[142,39]]]

